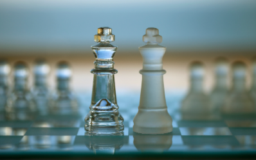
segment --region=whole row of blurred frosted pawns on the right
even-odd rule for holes
[[[190,89],[182,102],[181,111],[185,115],[207,113],[240,114],[256,111],[256,59],[252,62],[252,84],[246,88],[247,68],[242,61],[232,64],[232,86],[228,86],[229,64],[225,58],[218,58],[215,64],[215,84],[207,95],[203,90],[205,70],[203,63],[196,61],[190,65]]]

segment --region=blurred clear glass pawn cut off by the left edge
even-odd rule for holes
[[[8,96],[8,76],[10,74],[10,65],[5,60],[0,60],[0,111],[5,110]]]

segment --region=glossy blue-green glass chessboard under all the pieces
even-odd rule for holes
[[[118,94],[124,118],[123,136],[86,136],[84,117],[90,93],[79,93],[80,115],[40,115],[35,120],[5,120],[1,113],[0,157],[235,157],[256,156],[256,116],[219,116],[183,120],[183,93],[167,92],[173,131],[167,134],[133,132],[139,92]]]

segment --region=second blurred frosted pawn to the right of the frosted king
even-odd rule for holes
[[[228,95],[228,61],[218,58],[215,61],[215,85],[210,94],[210,108],[212,111],[221,111]]]

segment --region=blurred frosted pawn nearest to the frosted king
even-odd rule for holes
[[[206,118],[210,114],[209,99],[203,90],[205,69],[203,64],[195,61],[190,65],[190,89],[182,101],[183,118]]]

